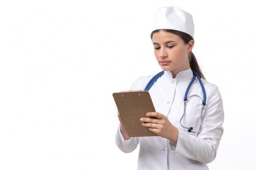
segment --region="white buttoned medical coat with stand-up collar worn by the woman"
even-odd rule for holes
[[[139,77],[130,90],[144,90],[152,77],[153,75]],[[177,73],[175,78],[171,71],[164,71],[164,75],[159,77],[148,91],[156,112],[165,115],[171,124],[179,129],[177,146],[159,136],[131,137],[124,140],[118,128],[116,144],[120,150],[132,152],[140,144],[138,170],[208,170],[207,163],[215,159],[224,121],[222,98],[216,85],[202,79],[207,95],[206,107],[202,113],[202,131],[188,132],[180,126],[184,112],[184,94],[192,77],[191,69]],[[194,94],[203,98],[197,78],[189,90],[188,97]],[[200,128],[202,101],[198,99],[199,97],[192,97],[189,100],[186,115],[182,119],[182,124],[185,127],[193,127],[193,131]]]

